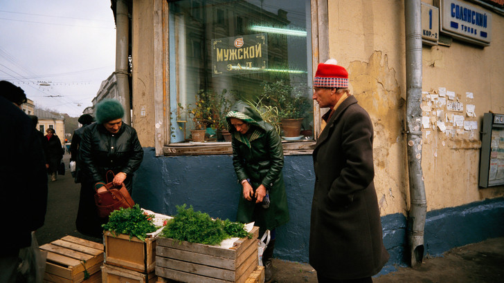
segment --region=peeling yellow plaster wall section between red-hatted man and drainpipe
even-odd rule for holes
[[[330,57],[375,128],[375,187],[381,215],[406,214],[403,1],[328,1]]]

